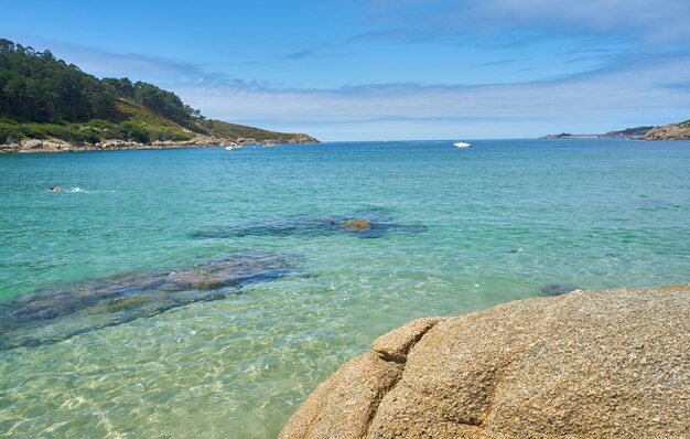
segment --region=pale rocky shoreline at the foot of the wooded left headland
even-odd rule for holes
[[[157,140],[140,143],[130,140],[105,140],[98,143],[72,144],[61,139],[25,139],[18,143],[0,144],[0,153],[12,152],[77,152],[77,151],[117,151],[137,149],[175,149],[205,147],[246,147],[250,144],[279,143],[319,143],[313,137],[302,135],[292,139],[256,140],[251,138],[225,139],[211,136],[196,136],[190,140]]]

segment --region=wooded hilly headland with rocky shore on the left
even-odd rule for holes
[[[47,50],[0,39],[0,152],[314,142],[208,119],[155,85],[98,79]]]

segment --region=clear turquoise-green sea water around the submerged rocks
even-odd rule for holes
[[[0,435],[274,437],[317,383],[411,319],[550,283],[689,280],[690,142],[473,144],[0,156],[6,304],[252,251],[295,267],[220,300],[0,351]],[[195,237],[357,212],[425,231]]]

